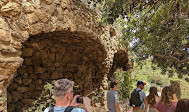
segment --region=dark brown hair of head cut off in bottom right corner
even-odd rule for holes
[[[189,107],[189,99],[181,99],[177,103],[175,112],[187,112]]]

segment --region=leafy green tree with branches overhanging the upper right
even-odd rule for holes
[[[85,1],[94,7],[101,4],[102,23],[122,24],[122,42],[132,43],[135,61],[153,57],[163,73],[189,74],[188,0]]]

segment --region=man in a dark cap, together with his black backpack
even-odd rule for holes
[[[133,112],[144,112],[144,99],[146,98],[146,94],[142,91],[144,89],[144,85],[146,85],[146,83],[138,81],[137,88],[131,92],[129,102],[130,106],[133,107]]]

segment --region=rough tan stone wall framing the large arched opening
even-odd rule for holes
[[[108,73],[121,46],[120,35],[112,25],[99,26],[95,15],[85,5],[78,6],[78,0],[0,1],[0,111],[7,112],[7,87],[18,68],[22,68],[23,44],[34,35],[67,32],[75,37],[88,37],[95,45],[103,46],[100,51],[107,56],[103,55],[104,62],[100,63],[106,66],[100,75]]]

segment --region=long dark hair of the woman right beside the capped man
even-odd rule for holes
[[[155,96],[158,96],[157,94],[157,88],[156,87],[150,87],[150,94],[147,96],[147,102],[154,106],[156,104]]]

